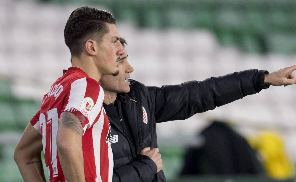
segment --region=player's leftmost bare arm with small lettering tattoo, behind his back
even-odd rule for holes
[[[46,181],[41,161],[42,150],[41,134],[29,123],[13,156],[25,182]]]

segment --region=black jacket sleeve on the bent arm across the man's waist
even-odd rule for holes
[[[157,166],[146,155],[137,155],[132,162],[113,170],[113,182],[151,182],[157,171]]]

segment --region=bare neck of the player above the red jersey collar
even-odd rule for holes
[[[101,79],[102,74],[99,73],[94,62],[88,60],[88,58],[83,58],[82,56],[81,58],[72,57],[72,67],[80,68],[87,74],[87,76],[89,76],[89,78],[92,78],[97,82]]]

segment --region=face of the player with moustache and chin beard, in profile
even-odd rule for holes
[[[100,68],[100,73],[104,75],[118,74],[118,61],[125,53],[123,46],[119,42],[119,33],[114,24],[106,23],[109,32],[102,37],[102,41],[96,46],[96,64]]]

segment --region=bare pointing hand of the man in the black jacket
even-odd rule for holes
[[[272,73],[266,74],[264,83],[273,86],[287,86],[296,83],[296,77],[293,71],[296,70],[296,65],[285,67],[276,70]]]

